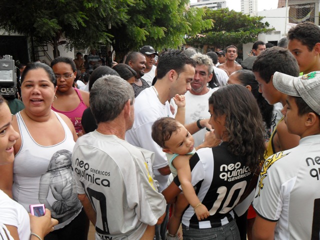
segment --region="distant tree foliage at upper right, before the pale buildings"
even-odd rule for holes
[[[221,8],[212,10],[205,8],[204,20],[212,19],[213,27],[205,29],[197,36],[190,36],[186,42],[193,46],[202,47],[210,45],[224,48],[228,45],[242,45],[242,43],[254,42],[259,33],[265,33],[274,28],[267,28],[268,22],[261,22],[261,16],[249,16]]]

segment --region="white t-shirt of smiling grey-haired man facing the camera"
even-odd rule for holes
[[[212,92],[216,91],[218,87],[208,88],[209,91],[203,95],[193,95],[190,91],[187,91],[185,95],[185,124],[189,124],[197,121],[199,118],[209,118],[209,102],[208,99],[212,95]],[[176,112],[176,105],[173,100],[171,104],[174,106]],[[194,138],[194,146],[198,146],[203,142],[206,129],[202,128],[192,134]]]

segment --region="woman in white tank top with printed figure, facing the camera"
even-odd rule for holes
[[[56,88],[56,79],[49,66],[34,62],[25,67],[21,76],[21,98],[25,108],[13,116],[12,122],[21,138],[13,145],[14,163],[0,168],[0,184],[1,189],[6,189],[10,195],[13,193],[13,198],[27,211],[29,204],[48,202],[48,207],[52,206],[59,200],[55,198],[57,194],[52,193],[54,191],[63,193],[64,189],[69,189],[69,194],[75,194],[72,178],[61,180],[72,177],[63,170],[58,172],[60,177],[51,177],[50,184],[41,179],[47,174],[51,157],[62,149],[71,152],[77,138],[68,117],[51,110]],[[79,201],[62,212],[51,209],[53,216],[67,215],[68,218],[60,217],[55,230],[45,239],[86,239],[88,220]]]

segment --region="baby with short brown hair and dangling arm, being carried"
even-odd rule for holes
[[[180,226],[182,212],[188,204],[193,207],[198,220],[209,216],[207,208],[201,204],[191,184],[191,171],[188,162],[195,152],[194,140],[185,127],[172,117],[162,117],[156,120],[152,125],[151,136],[166,152],[170,170],[173,176],[178,176],[184,193],[184,196],[179,194],[177,197],[166,234],[166,239],[178,239],[176,232]]]

